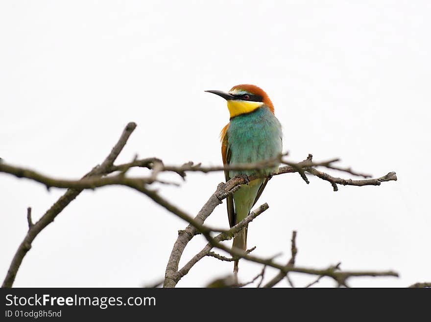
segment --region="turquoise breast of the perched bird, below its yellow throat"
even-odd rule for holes
[[[281,124],[265,105],[255,111],[234,117],[227,129],[229,164],[259,162],[277,157],[282,153]],[[268,175],[277,167],[263,171]],[[237,174],[255,174],[255,171],[230,171]]]

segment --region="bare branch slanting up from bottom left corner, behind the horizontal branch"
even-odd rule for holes
[[[92,171],[87,173],[84,178],[94,176],[94,175],[102,175],[106,173],[113,165],[114,161],[120,154],[121,150],[124,148],[130,134],[136,128],[135,123],[129,123],[125,127],[124,131],[120,136],[120,140],[111,150],[111,153],[106,157],[106,159],[102,162],[100,166],[96,166]],[[0,163],[1,166],[3,164]],[[36,236],[49,224],[52,223],[55,217],[80,193],[81,189],[68,189],[66,193],[60,197],[52,206],[48,209],[48,211],[37,221],[34,223],[31,228],[28,229],[27,234],[24,237],[23,242],[20,244],[18,250],[15,253],[15,256],[12,259],[12,262],[7,271],[6,277],[4,278],[2,287],[12,287],[13,282],[15,280],[15,276],[18,272],[18,269],[21,266],[23,258],[28,250],[31,248],[31,243],[36,238]]]

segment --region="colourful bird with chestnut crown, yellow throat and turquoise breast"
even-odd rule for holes
[[[238,165],[274,159],[283,149],[282,126],[274,114],[274,105],[262,88],[252,84],[240,84],[229,92],[209,90],[227,101],[230,122],[220,132],[223,165]],[[278,165],[260,171],[261,178],[249,181],[256,171],[225,170],[226,182],[235,176],[243,176],[248,182],[227,199],[227,214],[233,227],[250,214],[263,189]],[[248,227],[235,236],[232,248],[247,249]],[[234,272],[238,273],[238,260],[234,261]]]

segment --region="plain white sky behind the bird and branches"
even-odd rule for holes
[[[398,181],[335,193],[317,178],[274,177],[259,201],[270,208],[249,227],[254,254],[282,251],[285,263],[296,229],[297,265],[340,261],[344,270],[401,275],[351,279],[356,287],[429,281],[431,4],[348,2],[1,1],[0,157],[79,178],[134,121],[118,162],[137,153],[220,165],[218,133],[229,114],[204,90],[257,84],[275,105],[292,160],[340,157],[375,176],[395,171]],[[221,180],[190,174],[181,188],[160,191],[195,215]],[[26,233],[26,207],[36,220],[63,193],[0,174],[1,279]],[[225,204],[208,223],[228,227]],[[86,191],[36,238],[14,285],[151,283],[164,276],[185,226],[130,189]],[[182,264],[203,246],[193,239]],[[178,287],[203,286],[232,266],[205,258]],[[242,261],[240,278],[260,270]],[[297,286],[313,279],[291,278]]]

